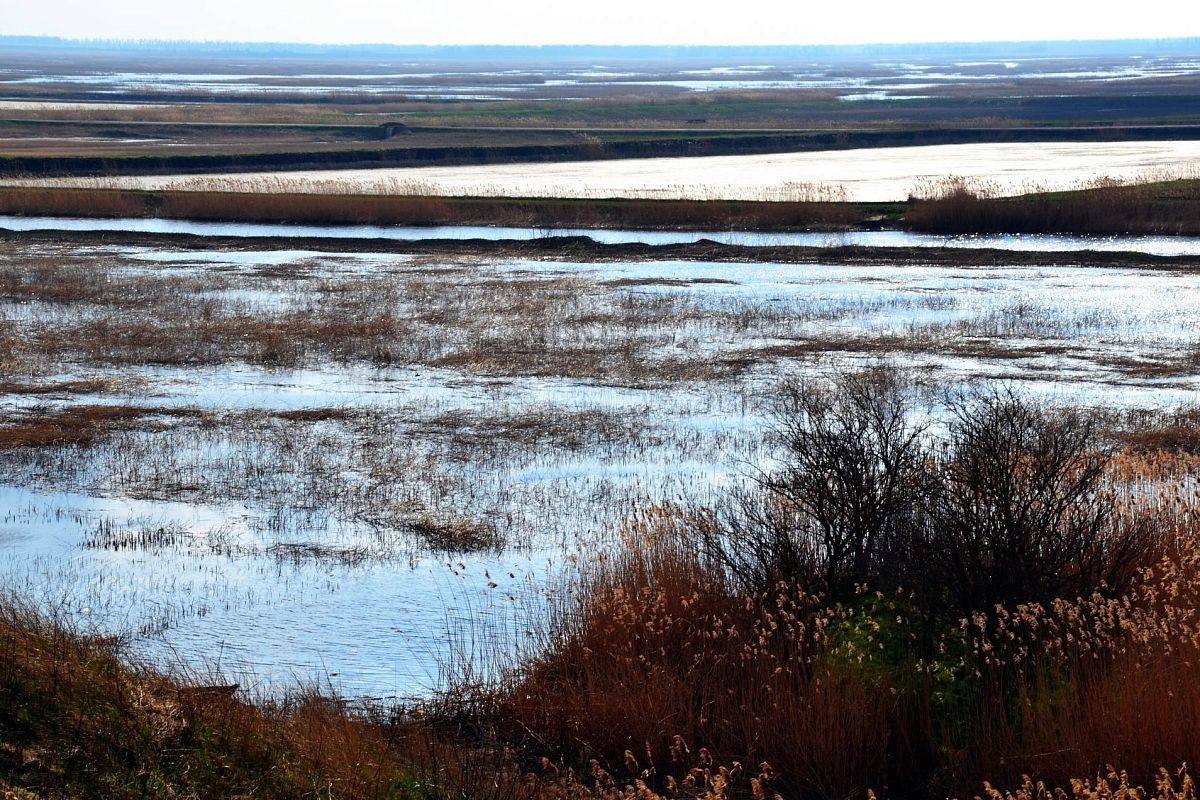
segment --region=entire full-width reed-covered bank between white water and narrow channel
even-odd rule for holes
[[[836,187],[797,185],[797,199],[545,199],[294,191],[124,191],[0,187],[0,213],[311,224],[515,225],[680,230],[904,228],[936,234],[1200,235],[1200,180],[1116,181],[1067,192],[996,197],[962,179],[905,203],[840,201]]]

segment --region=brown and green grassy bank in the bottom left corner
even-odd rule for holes
[[[233,686],[130,666],[118,643],[0,604],[5,798],[404,796],[398,732],[316,694],[251,705]]]

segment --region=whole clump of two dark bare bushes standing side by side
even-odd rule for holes
[[[1097,415],[1012,391],[950,398],[942,434],[926,413],[883,367],[785,385],[780,465],[698,546],[751,591],[919,587],[964,614],[1120,591],[1158,554],[1118,513]]]

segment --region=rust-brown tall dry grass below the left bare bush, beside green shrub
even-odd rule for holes
[[[498,698],[502,728],[608,769],[646,753],[659,790],[686,774],[679,738],[769,762],[785,792],[808,796],[910,781],[895,687],[827,657],[839,614],[794,587],[738,594],[689,547],[686,530],[703,524],[671,505],[629,523],[625,547],[552,609],[541,655]]]

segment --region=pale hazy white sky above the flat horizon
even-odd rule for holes
[[[0,0],[0,34],[394,44],[1200,36],[1192,0]]]

